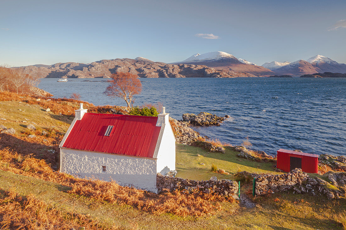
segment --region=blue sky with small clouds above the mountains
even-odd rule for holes
[[[0,64],[224,51],[257,65],[317,54],[346,63],[346,1],[0,0]]]

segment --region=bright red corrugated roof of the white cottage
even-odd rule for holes
[[[152,158],[161,129],[156,122],[157,117],[85,113],[62,147]],[[112,132],[104,136],[109,125]]]

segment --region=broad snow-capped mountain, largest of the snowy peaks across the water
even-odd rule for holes
[[[215,69],[246,72],[261,76],[270,76],[274,74],[270,69],[256,66],[244,59],[238,59],[235,56],[222,51],[194,54],[183,61],[177,61],[171,64],[205,65]]]

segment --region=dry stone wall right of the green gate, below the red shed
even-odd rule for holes
[[[294,169],[281,175],[264,174],[255,179],[255,194],[284,192],[292,190],[293,193],[310,193],[312,195],[325,194],[328,199],[340,198],[342,191],[336,186],[318,177],[310,178],[301,169]]]

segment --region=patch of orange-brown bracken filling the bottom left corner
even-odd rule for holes
[[[101,226],[83,214],[63,212],[34,195],[18,196],[14,189],[0,194],[0,220],[2,229],[119,229]]]

